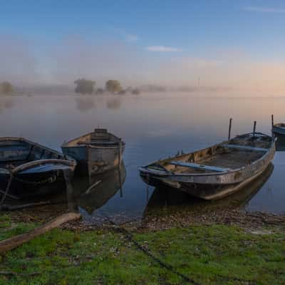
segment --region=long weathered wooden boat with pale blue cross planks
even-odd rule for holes
[[[202,199],[221,199],[261,175],[274,153],[275,138],[247,133],[140,167],[140,176],[152,186],[167,185]]]

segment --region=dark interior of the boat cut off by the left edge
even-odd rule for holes
[[[22,139],[4,138],[0,140],[0,168],[14,169],[35,160],[66,160],[61,153]]]

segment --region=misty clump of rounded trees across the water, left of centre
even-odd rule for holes
[[[88,80],[86,78],[80,78],[74,81],[76,84],[75,92],[80,94],[93,94],[101,95],[105,92],[124,95],[126,93],[132,93],[134,95],[140,94],[139,88],[123,88],[120,85],[120,81],[110,79],[105,83],[105,89],[97,88],[95,89],[95,81]]]

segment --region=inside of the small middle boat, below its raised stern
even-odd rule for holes
[[[95,129],[93,133],[82,135],[80,138],[76,138],[63,144],[63,147],[78,147],[81,145],[118,145],[120,139],[115,135],[108,133],[106,129]]]

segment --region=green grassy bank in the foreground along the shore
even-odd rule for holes
[[[0,217],[0,239],[27,232],[36,223]],[[264,234],[265,233],[265,234]],[[267,234],[266,234],[267,233]],[[199,225],[133,238],[198,284],[285,284],[284,232],[247,233],[226,225]],[[0,284],[186,284],[115,229],[72,232],[55,229],[1,257]]]

